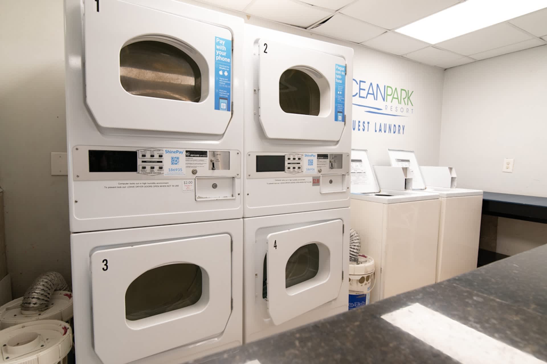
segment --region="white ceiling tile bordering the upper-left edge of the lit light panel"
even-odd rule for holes
[[[370,24],[395,29],[440,10],[451,7],[458,0],[358,0],[341,10]]]

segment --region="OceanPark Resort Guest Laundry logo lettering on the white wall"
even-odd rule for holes
[[[353,79],[353,131],[404,135],[406,125],[400,118],[414,114],[412,94],[409,89]]]

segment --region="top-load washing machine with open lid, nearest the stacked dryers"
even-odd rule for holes
[[[351,161],[351,227],[375,265],[370,302],[435,283],[439,195],[409,190],[406,168],[373,168],[366,150]]]

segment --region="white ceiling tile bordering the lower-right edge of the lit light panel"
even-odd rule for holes
[[[435,45],[468,56],[531,38],[525,32],[507,23],[501,23]]]

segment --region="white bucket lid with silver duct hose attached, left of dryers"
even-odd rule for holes
[[[43,311],[22,311],[19,297],[0,307],[0,330],[28,321],[72,319],[72,293],[55,291],[51,294],[48,308]]]

